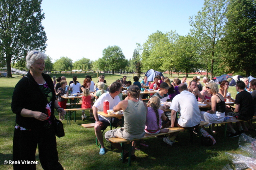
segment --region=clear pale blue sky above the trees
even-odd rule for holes
[[[53,62],[70,57],[102,57],[109,45],[118,45],[126,59],[136,43],[143,44],[157,30],[190,32],[189,17],[202,10],[204,0],[42,0],[45,13],[46,55]]]

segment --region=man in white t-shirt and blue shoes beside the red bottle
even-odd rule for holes
[[[108,125],[110,125],[111,118],[98,115],[98,111],[103,111],[103,105],[105,100],[108,100],[109,102],[109,109],[113,109],[113,107],[120,102],[120,98],[118,97],[118,94],[120,94],[121,90],[122,90],[121,83],[113,82],[110,86],[109,92],[102,94],[100,98],[98,98],[98,100],[96,100],[96,102],[92,106],[92,111],[95,118],[94,130],[95,130],[95,135],[101,145],[101,148],[100,148],[101,155],[104,155],[106,153],[101,130],[105,130],[108,127]],[[118,119],[114,118],[112,119],[112,121],[116,122],[118,121]]]

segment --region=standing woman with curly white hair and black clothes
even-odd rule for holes
[[[47,56],[36,50],[28,52],[26,65],[29,69],[15,86],[12,111],[16,114],[13,137],[13,161],[35,161],[36,148],[43,169],[63,170],[58,162],[54,128],[54,109],[60,108],[52,78],[44,74]],[[36,164],[14,164],[14,170],[36,169]]]

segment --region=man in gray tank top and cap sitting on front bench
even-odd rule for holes
[[[118,137],[128,141],[144,137],[148,107],[145,102],[138,100],[139,94],[140,88],[137,86],[130,86],[127,90],[128,97],[126,97],[125,100],[119,102],[118,105],[114,106],[114,111],[124,111],[124,127],[107,131],[105,133],[105,138],[108,142],[110,137]],[[122,147],[119,143],[112,143],[112,145],[118,150],[122,151]],[[134,153],[135,146],[136,143],[133,141],[131,153],[132,160],[136,159]],[[124,151],[124,159],[126,159],[128,156],[129,152]]]

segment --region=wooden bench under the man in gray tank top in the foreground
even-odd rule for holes
[[[204,125],[207,125],[208,123],[207,122],[201,122],[199,127],[201,126],[204,126]],[[168,128],[165,128],[165,129],[169,129],[169,131],[167,133],[158,133],[157,135],[144,135],[144,137],[140,138],[140,139],[146,139],[146,138],[150,138],[150,137],[155,137],[155,136],[160,136],[160,135],[167,135],[167,134],[170,134],[170,133],[175,133],[175,132],[180,132],[180,131],[184,131],[185,129],[183,128],[180,128],[180,127],[168,127]],[[201,133],[201,131],[199,131],[199,133]],[[193,132],[190,133],[190,140],[192,138],[192,134]],[[199,137],[201,135],[199,134]],[[122,160],[124,162],[124,143],[128,143],[129,144],[129,158],[128,158],[128,164],[129,166],[131,166],[131,156],[132,156],[132,141],[136,141],[136,140],[140,140],[140,139],[133,139],[131,141],[128,141],[126,139],[121,139],[121,138],[109,138],[109,141],[112,142],[112,143],[121,143],[122,145]],[[199,141],[199,143],[201,142],[201,140]]]

